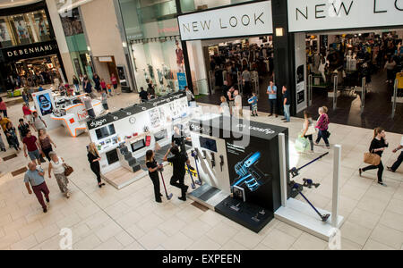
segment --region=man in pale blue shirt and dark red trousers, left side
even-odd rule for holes
[[[47,213],[47,205],[43,200],[43,195],[45,195],[45,199],[47,203],[50,202],[49,199],[49,188],[47,188],[47,183],[45,182],[45,172],[40,167],[37,167],[35,163],[30,162],[28,164],[28,171],[25,172],[24,182],[25,187],[28,190],[28,193],[32,195],[32,190],[37,197],[39,204],[42,205],[43,212]],[[32,190],[30,189],[32,188]]]

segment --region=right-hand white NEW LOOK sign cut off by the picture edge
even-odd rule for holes
[[[403,25],[403,0],[287,0],[290,32]]]

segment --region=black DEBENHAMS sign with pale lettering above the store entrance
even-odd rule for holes
[[[11,62],[21,59],[29,59],[50,54],[57,54],[56,41],[49,41],[27,46],[14,46],[2,49],[4,60]]]

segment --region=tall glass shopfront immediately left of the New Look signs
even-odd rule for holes
[[[183,88],[176,1],[120,0],[120,6],[137,88],[154,88],[159,96]]]

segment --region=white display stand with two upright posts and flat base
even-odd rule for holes
[[[286,142],[284,134],[279,134],[279,152],[280,152],[280,169],[281,169],[281,207],[275,212],[275,218],[282,222],[294,226],[300,230],[304,230],[315,237],[330,241],[337,233],[337,230],[344,222],[344,217],[338,214],[339,205],[339,163],[341,155],[341,147],[335,146],[335,157],[333,165],[333,193],[332,193],[332,210],[327,212],[317,208],[321,214],[330,214],[327,222],[322,222],[313,211],[313,208],[302,201],[295,198],[287,199],[287,171],[286,171]]]

